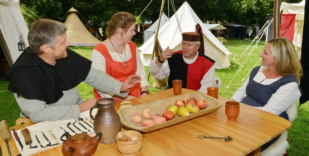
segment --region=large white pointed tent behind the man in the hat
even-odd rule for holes
[[[188,2],[177,10],[177,17],[182,32],[196,32],[195,25],[199,23],[203,31],[205,55],[216,61],[214,67],[216,69],[227,68],[230,65],[228,55],[231,54],[215,36],[207,29],[202,23],[200,18],[197,17],[195,12],[189,6]],[[141,52],[141,57],[144,65],[149,65],[154,46],[155,35],[153,35],[146,43],[144,43],[138,49]],[[158,39],[162,49],[169,46],[173,51],[181,50],[182,34],[179,30],[176,15],[174,14],[170,18],[170,22],[167,22],[159,29]]]

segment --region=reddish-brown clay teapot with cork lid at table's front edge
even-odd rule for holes
[[[74,136],[66,132],[66,141],[63,142],[62,154],[64,156],[90,156],[98,148],[102,133],[91,138],[87,133],[79,133]]]

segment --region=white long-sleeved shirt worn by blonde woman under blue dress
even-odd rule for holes
[[[266,76],[262,72],[262,68],[265,66],[261,66],[259,71],[257,72],[256,76],[254,76],[253,80],[257,83],[261,82],[266,78]],[[247,80],[243,83],[241,87],[239,87],[236,92],[233,94],[231,99],[240,102],[246,95],[246,87],[248,85],[250,76]],[[260,84],[268,85],[271,84],[280,78],[277,79],[265,79]],[[270,97],[267,101],[267,104],[263,107],[256,107],[267,112],[280,115],[282,112],[286,111],[291,105],[293,105],[298,98],[300,97],[301,93],[298,88],[298,83],[291,82],[285,84],[278,88],[278,90]]]

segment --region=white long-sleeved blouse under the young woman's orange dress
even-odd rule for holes
[[[112,59],[117,62],[124,62],[123,60],[130,60],[132,57],[129,44],[126,44],[125,49],[123,50],[123,53],[119,54],[121,57],[119,57],[117,52],[111,52],[111,51],[108,51],[108,52],[111,55]],[[102,55],[99,51],[93,49],[90,55],[90,60],[92,61],[91,66],[93,68],[106,72],[106,60],[105,60],[104,55]],[[146,70],[145,70],[144,64],[142,63],[137,47],[136,47],[136,64],[137,64],[137,70],[135,72],[135,75],[141,76],[141,79],[142,79],[141,80],[142,84],[140,84],[140,86],[141,87],[146,86],[147,88],[150,87],[149,82],[147,81]],[[128,66],[129,65],[130,64],[128,64]],[[108,94],[106,92],[101,92],[98,90],[97,92],[102,98],[111,98],[113,96],[113,94]]]

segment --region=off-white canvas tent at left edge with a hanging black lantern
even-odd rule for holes
[[[28,47],[28,27],[19,8],[19,0],[0,0],[0,44],[10,67],[23,51],[18,51],[19,35]]]

